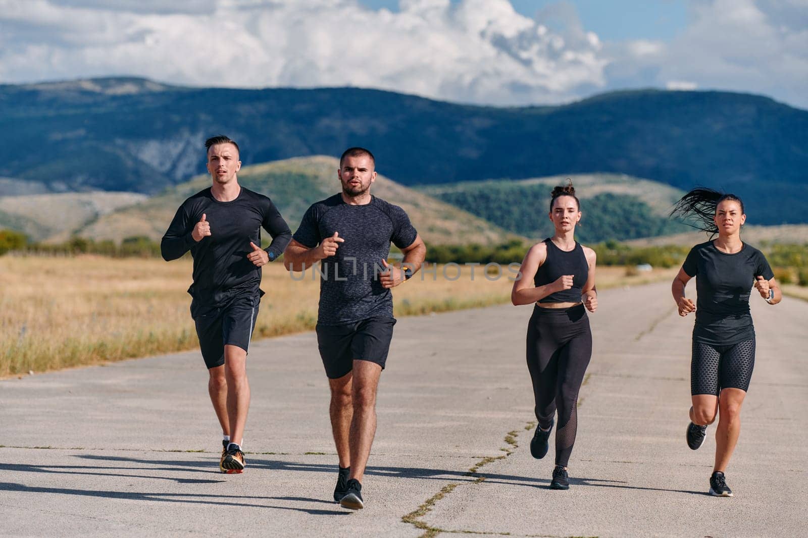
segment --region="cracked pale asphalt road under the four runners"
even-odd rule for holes
[[[198,352],[2,380],[0,535],[805,536],[808,302],[752,299],[734,498],[707,494],[714,427],[699,451],[684,442],[692,317],[654,284],[602,292],[591,315],[568,491],[548,489],[553,444],[528,450],[531,307],[502,306],[399,320],[358,512],[331,499],[313,333],[253,344],[241,475],[218,473]]]

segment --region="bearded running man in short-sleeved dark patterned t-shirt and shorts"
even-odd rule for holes
[[[289,271],[320,262],[317,338],[339,455],[334,500],[352,509],[364,506],[376,389],[396,322],[390,288],[418,271],[427,253],[406,212],[370,194],[375,165],[367,149],[347,149],[337,170],[343,191],[305,212],[284,252]],[[390,242],[404,253],[402,268],[387,263]]]

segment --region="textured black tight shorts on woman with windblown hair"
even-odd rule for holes
[[[693,342],[690,393],[715,394],[722,389],[749,389],[755,368],[755,338],[731,346]]]

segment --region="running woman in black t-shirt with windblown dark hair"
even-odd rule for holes
[[[715,466],[709,493],[732,497],[724,471],[741,431],[740,412],[755,366],[755,327],[749,313],[754,285],[769,305],[781,301],[780,288],[764,255],[741,241],[747,216],[738,196],[696,188],[684,195],[673,213],[696,219],[696,227],[718,238],[694,246],[673,280],[680,316],[696,312],[690,364],[688,447],[701,447],[707,426],[718,414]],[[684,296],[696,276],[698,310]]]

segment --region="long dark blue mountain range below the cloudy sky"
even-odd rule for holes
[[[479,107],[356,88],[98,78],[0,86],[0,129],[11,133],[0,195],[158,193],[204,172],[204,139],[225,133],[245,165],[364,145],[406,186],[628,174],[734,191],[758,224],[808,222],[808,111],[758,95],[631,90]]]

